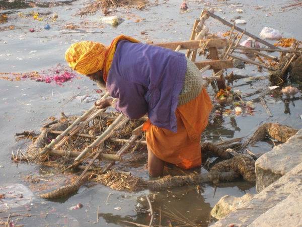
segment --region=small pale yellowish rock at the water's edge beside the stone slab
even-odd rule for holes
[[[235,211],[239,206],[251,200],[252,198],[253,195],[250,193],[247,193],[242,197],[225,195],[213,207],[213,209],[211,210],[211,215],[219,220],[232,211]]]

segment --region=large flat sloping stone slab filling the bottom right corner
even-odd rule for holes
[[[298,208],[296,206],[301,204],[299,201],[301,200],[302,194],[298,193],[300,190],[302,190],[302,163],[298,164],[290,172],[262,190],[259,194],[254,195],[250,201],[238,206],[237,209],[228,216],[215,222],[212,226],[224,227],[230,224],[235,224],[235,226],[248,226],[254,221],[256,223],[257,218],[259,218],[259,221],[263,221],[263,223],[258,226],[275,226],[274,224],[270,224],[272,223],[271,221],[274,221],[274,223],[284,223],[284,220],[281,220],[284,216],[280,215],[280,212],[287,209],[285,205],[292,204],[293,199],[295,199],[297,203],[291,211],[288,211],[286,216],[290,215],[291,212],[294,215],[293,221],[296,223],[285,226],[299,226],[297,222],[298,216],[296,215],[296,209]],[[287,198],[288,200],[286,200]],[[276,208],[278,204],[281,204],[278,207],[283,206],[279,213]],[[265,215],[268,213],[270,213],[270,218],[265,218]]]

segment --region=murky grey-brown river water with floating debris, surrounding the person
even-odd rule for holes
[[[102,24],[102,13],[91,16],[77,16],[79,9],[88,1],[41,2],[47,7],[29,7],[19,0],[0,0],[0,14],[8,15],[8,22],[0,24],[0,73],[41,71],[65,64],[64,52],[73,42],[94,40],[109,44],[117,35],[123,33],[135,36],[142,41],[176,41],[189,39],[194,19],[198,18],[202,9],[215,6],[215,13],[230,21],[241,16],[247,21],[249,32],[258,35],[265,26],[278,29],[285,37],[302,39],[302,8],[282,7],[294,1],[187,1],[189,10],[180,13],[180,1],[158,1],[158,6],[148,6],[142,11],[135,9],[119,9],[111,15],[124,19],[118,27]],[[152,2],[153,3],[153,2]],[[49,5],[50,4],[50,5]],[[1,10],[3,8],[3,10]],[[236,9],[243,13],[239,14]],[[26,16],[30,12],[38,12],[43,21]],[[51,17],[57,14],[53,21]],[[45,30],[46,23],[50,25]],[[66,29],[65,25],[72,23],[77,29]],[[207,22],[211,33],[225,32],[228,27],[209,19]],[[13,29],[8,29],[14,26]],[[35,32],[29,29],[34,28]],[[210,117],[202,140],[217,142],[250,135],[264,122],[279,122],[296,129],[302,128],[301,93],[295,99],[287,100],[280,95],[269,92],[270,86],[266,79],[268,73],[258,72],[257,68],[246,65],[246,69],[229,69],[230,73],[248,75],[253,78],[241,79],[230,84],[233,89],[242,91],[244,100],[255,99],[254,115],[240,116],[222,115],[219,120]],[[2,75],[1,75],[2,76]],[[75,77],[72,81],[59,86],[55,83],[36,82],[24,79],[21,81],[0,80],[0,185],[21,183],[30,186],[26,176],[39,178],[40,182],[49,181],[56,175],[63,184],[64,176],[55,169],[48,169],[26,162],[15,164],[11,161],[12,151],[19,147],[25,150],[30,141],[15,141],[16,132],[24,130],[38,131],[50,116],[59,117],[60,112],[66,115],[81,115],[92,103],[80,103],[74,96],[93,95],[97,87],[85,77]],[[259,90],[267,102],[273,117],[269,118],[265,109],[257,99],[259,94],[249,95]],[[213,97],[214,91],[208,87]],[[226,106],[225,108],[229,108]],[[271,149],[271,144],[259,142],[250,149],[256,153],[264,153]],[[144,168],[145,160],[133,172],[144,178],[147,177]],[[205,171],[205,170],[202,170]],[[42,180],[41,180],[42,179]],[[45,182],[44,182],[45,183]],[[148,224],[150,217],[146,213],[137,214],[134,208],[138,203],[147,206],[145,195],[149,195],[156,213],[156,225],[199,225],[207,226],[212,219],[209,212],[214,204],[224,195],[242,196],[245,193],[256,193],[255,187],[244,182],[212,184],[196,187],[171,188],[164,191],[142,191],[125,193],[113,191],[102,185],[85,185],[79,193],[58,201],[40,199],[37,195],[30,204],[16,208],[31,213],[17,221],[25,226],[118,226],[131,225],[123,220]],[[1,194],[1,192],[0,192]],[[78,203],[83,208],[70,210],[69,207]],[[97,210],[99,219],[97,222]],[[16,211],[16,212],[17,212]],[[0,210],[1,212],[1,210]],[[7,213],[6,213],[7,214]],[[161,214],[161,215],[160,215]],[[2,217],[2,216],[1,216]],[[181,219],[178,221],[176,219]]]

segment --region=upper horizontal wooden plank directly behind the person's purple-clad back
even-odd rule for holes
[[[175,50],[179,45],[181,49],[198,49],[200,46],[206,44],[207,48],[210,47],[223,47],[226,45],[226,39],[202,39],[202,40],[190,40],[179,42],[161,42],[153,43],[151,45],[161,46],[168,49]]]

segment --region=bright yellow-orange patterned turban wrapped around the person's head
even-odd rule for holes
[[[80,74],[93,74],[103,69],[106,46],[99,42],[73,43],[65,52],[68,65]]]

